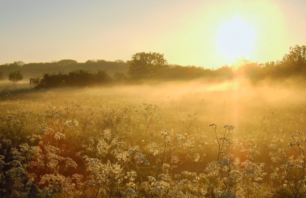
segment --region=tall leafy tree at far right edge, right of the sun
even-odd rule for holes
[[[295,45],[289,49],[289,54],[285,54],[277,66],[286,71],[306,72],[306,46]]]

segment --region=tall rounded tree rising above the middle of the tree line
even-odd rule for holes
[[[156,52],[140,52],[132,56],[128,74],[132,78],[152,77],[156,72],[167,67],[167,60],[164,54]]]

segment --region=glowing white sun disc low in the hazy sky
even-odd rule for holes
[[[253,50],[253,41],[253,28],[240,19],[223,24],[217,37],[220,52],[231,59],[249,55]]]

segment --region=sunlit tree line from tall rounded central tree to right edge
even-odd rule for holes
[[[154,60],[154,61],[152,61]],[[269,78],[282,78],[292,75],[306,75],[306,46],[295,45],[289,48],[282,60],[258,63],[244,57],[237,59],[231,66],[224,65],[217,69],[205,69],[196,66],[169,66],[163,54],[136,53],[129,64],[128,75],[132,79],[157,78],[185,80],[199,77],[229,80],[243,76],[257,82]]]

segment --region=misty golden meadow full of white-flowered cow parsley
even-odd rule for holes
[[[30,90],[0,112],[1,197],[306,196],[303,79]]]

